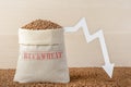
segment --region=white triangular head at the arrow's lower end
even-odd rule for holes
[[[103,69],[105,70],[105,72],[108,74],[110,78],[112,77],[114,66],[115,64],[111,64],[111,63],[103,65]]]

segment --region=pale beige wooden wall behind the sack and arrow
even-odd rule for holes
[[[16,66],[17,28],[36,20],[73,26],[85,17],[91,34],[105,33],[110,61],[131,66],[130,0],[0,0],[0,69]],[[98,40],[86,44],[82,30],[66,34],[69,66],[102,66]]]

